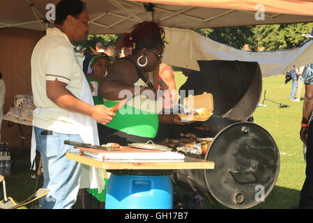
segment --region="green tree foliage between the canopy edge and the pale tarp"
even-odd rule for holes
[[[242,49],[248,44],[252,50],[265,47],[266,50],[291,49],[298,47],[310,33],[313,23],[272,24],[259,26],[237,26],[214,29],[199,29],[201,35],[219,43]]]

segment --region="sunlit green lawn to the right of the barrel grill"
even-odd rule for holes
[[[291,82],[284,84],[284,75],[263,78],[263,93],[266,98],[289,105],[279,108],[265,101],[268,107],[257,107],[253,116],[257,124],[264,127],[274,138],[280,149],[280,175],[273,192],[257,208],[290,208],[298,205],[299,193],[305,180],[303,143],[300,141],[300,123],[303,101],[289,100]],[[305,89],[303,87],[302,97]],[[261,97],[261,102],[264,96]]]

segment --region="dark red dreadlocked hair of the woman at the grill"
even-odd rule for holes
[[[141,22],[132,26],[132,31],[123,35],[122,40],[117,47],[133,47],[134,43],[141,43],[148,40],[160,39],[162,33],[165,33],[162,27],[156,22]]]

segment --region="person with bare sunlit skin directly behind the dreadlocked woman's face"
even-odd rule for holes
[[[177,102],[176,83],[174,77],[174,70],[171,66],[161,63],[159,67],[158,90],[165,91],[164,98],[166,100]],[[164,107],[172,107],[170,102],[163,102]]]

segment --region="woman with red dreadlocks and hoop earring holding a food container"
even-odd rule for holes
[[[104,105],[114,107],[120,100],[126,98],[125,90],[137,93],[139,89],[142,95],[147,92],[146,90],[154,94],[153,100],[148,100],[153,102],[153,106],[147,103],[147,99],[142,95],[132,98],[116,112],[116,117],[111,123],[101,126],[100,144],[116,142],[127,146],[132,142],[146,143],[157,134],[159,121],[185,124],[176,114],[159,114],[162,111],[162,101],[159,103],[154,100],[156,90],[146,74],[158,68],[162,62],[164,37],[165,32],[157,23],[141,22],[135,24],[132,31],[121,41],[120,47],[132,47],[132,54],[117,60],[110,66],[99,89],[100,95],[104,98]],[[147,83],[148,86],[140,87]],[[138,98],[140,99],[137,100]]]

